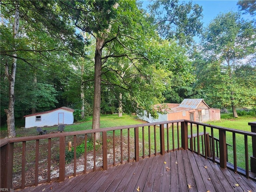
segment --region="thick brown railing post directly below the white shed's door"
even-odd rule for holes
[[[66,137],[60,137],[59,182],[65,180],[65,140]]]

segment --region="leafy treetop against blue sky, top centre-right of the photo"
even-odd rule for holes
[[[190,45],[202,32],[202,6],[178,0],[157,0],[148,5],[160,36]]]

